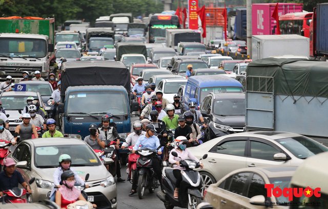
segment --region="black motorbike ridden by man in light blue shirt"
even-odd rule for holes
[[[145,194],[145,190],[148,189],[149,193],[154,193],[155,189],[158,188],[157,178],[155,177],[155,172],[152,168],[152,158],[157,157],[156,150],[151,150],[149,148],[142,148],[136,150],[140,155],[137,159],[137,178],[138,178],[138,188],[137,193],[139,199],[142,199]]]

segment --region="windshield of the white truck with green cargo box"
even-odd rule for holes
[[[47,55],[46,44],[46,40],[36,38],[0,38],[0,54],[42,58]]]

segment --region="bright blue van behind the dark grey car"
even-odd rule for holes
[[[237,80],[224,75],[192,76],[187,81],[183,104],[189,110],[189,102],[195,102],[198,109],[202,100],[210,92],[214,94],[242,93],[244,88]]]

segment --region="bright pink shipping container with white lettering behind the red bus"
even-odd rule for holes
[[[276,34],[276,20],[271,17],[277,4],[252,4],[252,35]],[[278,15],[302,12],[303,4],[279,3]],[[275,30],[273,32],[273,30]]]

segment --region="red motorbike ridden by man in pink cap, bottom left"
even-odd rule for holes
[[[35,178],[31,178],[28,182],[28,185],[30,187],[30,184],[32,184],[35,181]],[[31,187],[30,187],[31,188]],[[31,200],[31,194],[27,193],[27,188],[20,189],[18,187],[14,187],[11,190],[5,190],[3,191],[3,197],[2,197],[2,203],[28,203],[32,202]],[[26,195],[26,198],[22,198],[22,196]]]

